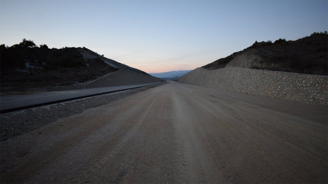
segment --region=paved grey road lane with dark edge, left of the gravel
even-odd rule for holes
[[[0,112],[12,112],[31,107],[37,107],[52,103],[75,100],[79,98],[91,97],[126,89],[133,89],[142,86],[154,85],[158,83],[134,84],[112,87],[98,87],[88,89],[76,89],[66,91],[42,92],[30,95],[9,95],[0,97]]]

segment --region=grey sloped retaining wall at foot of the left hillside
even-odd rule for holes
[[[128,69],[121,69],[83,85],[31,88],[30,91],[63,91],[63,90],[72,90],[72,89],[86,89],[86,88],[94,88],[94,87],[109,87],[109,86],[144,84],[144,83],[158,83],[158,82],[161,82],[161,80],[157,77],[153,77],[151,75],[147,75],[144,73],[140,73]]]

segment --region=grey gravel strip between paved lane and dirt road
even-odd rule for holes
[[[111,103],[156,86],[158,85],[145,86],[131,90],[124,90],[105,95],[98,95],[89,98],[1,114],[0,141],[5,141],[21,134],[31,132],[32,130],[36,130],[56,120],[82,113],[89,108]]]

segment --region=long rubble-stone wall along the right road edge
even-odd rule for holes
[[[303,103],[327,105],[327,76],[224,67],[196,68],[179,82]]]

